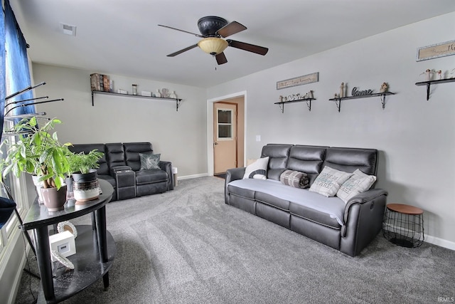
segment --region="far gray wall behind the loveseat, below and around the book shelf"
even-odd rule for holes
[[[33,63],[36,96],[64,98],[58,103],[37,105],[38,112],[58,117],[60,142],[73,144],[97,142],[151,142],[161,159],[178,167],[178,176],[206,174],[205,89],[151,80],[109,75],[114,89],[132,93],[132,83],[141,90],[175,90],[182,98],[176,111],[173,100],[95,95],[92,107],[90,73],[97,71],[60,68]]]

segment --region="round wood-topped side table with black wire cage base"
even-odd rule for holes
[[[424,243],[424,211],[406,204],[387,204],[382,235],[395,245],[414,248]]]

